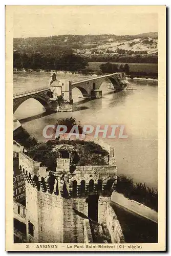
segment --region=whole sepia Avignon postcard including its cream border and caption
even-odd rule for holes
[[[6,6],[6,250],[165,251],[166,6]]]

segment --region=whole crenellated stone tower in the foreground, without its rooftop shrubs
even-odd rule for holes
[[[114,148],[103,166],[72,166],[73,152],[61,152],[55,172],[19,153],[26,179],[27,242],[93,243],[91,223],[106,223],[106,207],[116,181]]]

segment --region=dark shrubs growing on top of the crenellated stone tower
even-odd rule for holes
[[[48,167],[48,169],[55,171],[56,158],[59,157],[59,152],[52,152],[55,145],[66,144],[73,145],[73,151],[77,153],[73,158],[73,165],[106,165],[108,161],[104,159],[108,155],[108,152],[102,149],[102,147],[94,142],[81,141],[81,140],[51,140],[47,143],[39,143],[38,145],[31,147],[27,151],[27,155],[33,158],[33,160],[41,162],[42,165]]]

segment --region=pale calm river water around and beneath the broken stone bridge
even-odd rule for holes
[[[58,74],[57,78],[72,81],[91,76]],[[14,93],[48,85],[50,73],[14,73]],[[127,139],[105,139],[115,147],[118,174],[131,176],[135,182],[157,188],[157,81],[129,80],[131,89],[114,93],[103,82],[101,99],[82,99],[78,89],[72,90],[73,112],[46,114],[35,99],[28,99],[15,112],[15,117],[38,141],[45,141],[42,130],[55,124],[58,118],[74,117],[77,122],[92,125],[119,124],[125,126]]]

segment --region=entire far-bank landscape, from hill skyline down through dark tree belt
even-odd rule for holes
[[[146,35],[146,36],[145,36]],[[88,62],[157,63],[157,33],[14,38],[14,68],[81,71]]]

